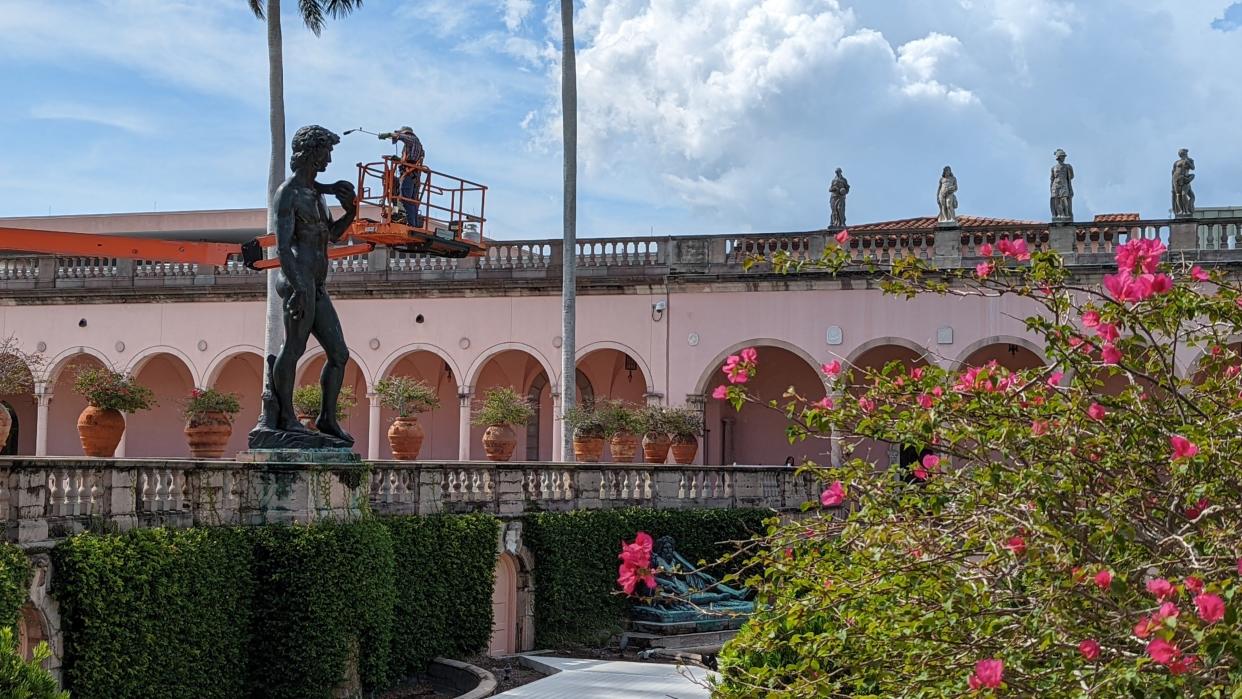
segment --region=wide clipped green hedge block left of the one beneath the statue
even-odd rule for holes
[[[75,699],[243,695],[250,541],[236,529],[83,534],[53,550]]]

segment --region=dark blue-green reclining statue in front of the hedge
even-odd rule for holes
[[[677,552],[672,536],[661,536],[651,551],[656,595],[650,605],[636,605],[631,620],[650,631],[714,631],[737,628],[754,612],[749,591],[722,584],[697,570]]]

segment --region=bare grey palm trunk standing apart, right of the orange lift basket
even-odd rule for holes
[[[560,114],[564,142],[564,242],[561,257],[560,410],[578,402],[575,315],[578,302],[578,67],[574,50],[574,0],[560,0]],[[561,423],[561,459],[574,461],[574,432]]]

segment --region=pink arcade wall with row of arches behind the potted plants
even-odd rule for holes
[[[656,302],[664,309],[657,310]],[[426,459],[483,458],[472,405],[493,386],[513,386],[539,407],[519,430],[517,461],[559,461],[559,297],[482,295],[338,300],[350,360],[345,382],[358,405],[347,430],[364,458],[390,458],[384,430],[392,417],[374,392],[386,376],[414,376],[436,387],[440,407],[422,416]],[[580,399],[688,405],[704,413],[700,463],[781,463],[825,459],[831,446],[790,446],[780,416],[754,406],[740,413],[710,400],[729,354],[755,346],[758,385],[769,395],[796,386],[811,397],[827,387],[818,368],[833,359],[883,366],[899,359],[946,368],[992,359],[1011,368],[1042,364],[1018,320],[1015,299],[919,297],[894,299],[874,289],[722,291],[652,288],[590,294],[579,300]],[[79,303],[0,308],[2,331],[41,350],[47,369],[34,392],[0,396],[12,407],[9,453],[78,456],[76,420],[84,401],[72,391],[78,368],[103,365],[134,374],[159,406],[128,416],[118,456],[188,456],[179,410],[194,387],[242,397],[226,454],[245,448],[261,394],[262,304],[240,302]],[[1181,358],[1186,370],[1195,358]],[[312,346],[299,384],[318,380],[323,354]],[[883,454],[874,454],[877,459]]]

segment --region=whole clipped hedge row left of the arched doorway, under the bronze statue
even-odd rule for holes
[[[487,644],[498,525],[445,515],[75,536],[53,554],[66,684],[75,699],[328,698],[356,658],[364,687],[386,687]]]

